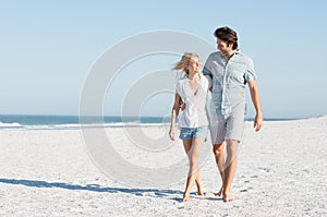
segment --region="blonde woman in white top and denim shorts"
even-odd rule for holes
[[[181,108],[180,101],[183,101],[185,107],[179,116],[179,126],[181,129],[180,138],[183,141],[190,161],[190,170],[183,194],[183,202],[189,202],[191,201],[190,193],[194,181],[197,186],[197,194],[203,195],[199,181],[198,157],[208,131],[206,114],[208,81],[204,75],[199,74],[201,62],[198,56],[194,52],[185,52],[173,69],[182,70],[185,72],[185,75],[175,84],[169,136],[171,140],[175,138],[175,119]]]

